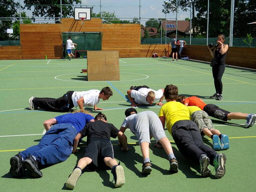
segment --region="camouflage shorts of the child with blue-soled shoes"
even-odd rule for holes
[[[209,130],[215,129],[212,124],[212,120],[203,110],[195,111],[194,113],[192,113],[191,120],[196,123],[200,132],[202,132],[204,128],[208,128]]]

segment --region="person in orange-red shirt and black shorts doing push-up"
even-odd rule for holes
[[[231,119],[246,119],[245,128],[251,127],[256,120],[256,114],[229,112],[219,108],[214,104],[206,104],[203,100],[196,96],[185,97],[180,95],[177,101],[183,103],[185,106],[197,106],[208,113],[209,116],[220,119],[222,121],[228,121]]]

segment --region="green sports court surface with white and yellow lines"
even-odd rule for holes
[[[44,167],[43,177],[31,179],[28,172],[23,178],[13,178],[9,173],[10,158],[32,145],[43,136],[44,120],[63,113],[44,110],[29,110],[28,99],[34,97],[58,98],[69,90],[86,91],[109,86],[113,96],[97,107],[108,118],[108,123],[118,129],[124,120],[124,111],[129,108],[126,91],[131,85],[148,85],[158,90],[167,84],[179,88],[179,94],[197,96],[205,103],[212,103],[231,112],[255,113],[256,71],[226,65],[223,82],[223,100],[210,99],[214,93],[212,68],[209,63],[193,60],[172,61],[171,58],[120,58],[120,81],[87,81],[86,59],[48,60],[0,60],[0,183],[1,191],[63,191],[65,182],[77,161],[84,155],[86,138],[80,143],[79,152],[66,161]],[[165,103],[165,100],[164,102]],[[85,108],[96,115],[98,111]],[[160,106],[139,106],[138,112],[151,110],[158,114]],[[216,129],[229,136],[230,148],[219,153],[227,156],[226,174],[215,179],[212,175],[202,178],[199,163],[184,158],[177,149],[172,136],[165,130],[179,161],[179,172],[170,174],[168,156],[164,149],[150,147],[152,172],[141,174],[143,158],[138,140],[126,130],[128,152],[122,152],[117,140],[111,140],[117,161],[124,168],[125,184],[117,191],[254,191],[255,190],[255,145],[256,125],[244,128],[245,120],[228,122],[212,118]],[[212,140],[204,137],[204,143],[212,147]],[[152,144],[154,140],[152,139]],[[110,171],[84,172],[73,191],[112,191],[113,176]]]

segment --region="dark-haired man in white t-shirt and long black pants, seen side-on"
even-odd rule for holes
[[[97,108],[97,104],[102,100],[108,100],[113,92],[109,87],[104,87],[101,91],[93,89],[89,91],[68,91],[58,99],[31,97],[28,100],[30,110],[41,108],[49,111],[67,112],[73,107],[94,107],[94,110],[103,110]]]

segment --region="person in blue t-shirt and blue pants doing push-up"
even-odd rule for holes
[[[76,134],[91,121],[94,121],[93,116],[84,110],[76,110],[46,120],[44,128],[48,131],[38,145],[27,148],[10,159],[11,175],[22,177],[26,168],[30,170],[32,177],[42,177],[43,173],[39,170],[39,166],[63,162],[71,153],[75,153],[73,141]]]

